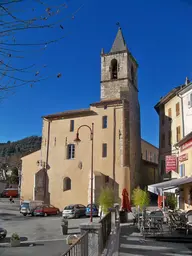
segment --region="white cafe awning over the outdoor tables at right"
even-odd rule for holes
[[[192,176],[182,177],[182,178],[178,178],[178,179],[172,179],[172,180],[164,181],[161,183],[148,185],[148,191],[152,192],[156,195],[162,195],[163,192],[174,193],[175,189],[178,186],[187,184],[187,183],[191,183],[191,182],[192,182]]]

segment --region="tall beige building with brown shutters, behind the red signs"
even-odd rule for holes
[[[166,155],[179,156],[179,150],[175,146],[183,138],[182,102],[179,92],[186,85],[174,88],[166,96],[162,97],[155,105],[159,115],[159,169],[162,179],[179,178],[177,172],[165,172]]]

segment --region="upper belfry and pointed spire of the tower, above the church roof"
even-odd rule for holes
[[[125,90],[137,97],[137,67],[119,28],[110,52],[101,53],[101,100],[120,99]]]

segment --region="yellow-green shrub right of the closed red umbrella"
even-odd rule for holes
[[[149,193],[146,190],[142,190],[139,187],[135,188],[133,190],[133,205],[135,207],[140,207],[141,210],[143,210],[144,207],[149,206],[150,203],[150,197]]]

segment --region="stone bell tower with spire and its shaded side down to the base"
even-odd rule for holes
[[[141,132],[137,83],[138,64],[119,27],[110,52],[101,51],[101,101],[124,100],[124,153],[128,158],[129,191],[140,185]]]

